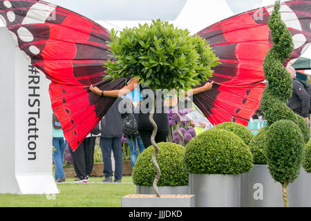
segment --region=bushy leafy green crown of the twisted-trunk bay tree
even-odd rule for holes
[[[211,77],[218,57],[201,37],[174,28],[167,21],[152,21],[139,28],[111,31],[108,46],[114,62],[107,61],[106,77],[140,78],[149,88],[193,88]]]

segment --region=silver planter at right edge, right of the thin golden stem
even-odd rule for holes
[[[288,185],[288,206],[311,207],[311,173],[303,168],[295,182]]]

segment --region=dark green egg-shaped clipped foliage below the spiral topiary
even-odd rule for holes
[[[290,120],[280,120],[267,130],[265,151],[270,174],[281,184],[288,185],[299,176],[303,154],[303,136]]]

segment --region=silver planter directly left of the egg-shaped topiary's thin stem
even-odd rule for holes
[[[241,206],[284,206],[282,186],[273,180],[267,165],[254,165],[252,171],[241,175]]]

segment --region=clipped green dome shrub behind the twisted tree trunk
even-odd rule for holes
[[[186,148],[175,143],[158,143],[157,162],[161,177],[158,186],[187,186],[189,175],[186,171],[184,158]],[[156,169],[152,163],[153,146],[146,148],[138,156],[133,167],[133,183],[138,186],[152,186]]]

